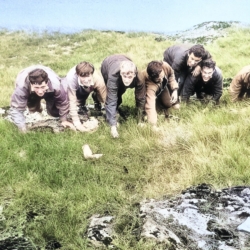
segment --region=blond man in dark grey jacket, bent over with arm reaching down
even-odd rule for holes
[[[145,104],[145,83],[135,64],[125,55],[112,55],[104,59],[101,73],[107,86],[105,102],[106,119],[111,126],[111,135],[119,137],[116,113],[127,88],[135,88],[136,106],[140,112]]]

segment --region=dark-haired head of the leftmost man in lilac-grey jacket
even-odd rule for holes
[[[43,69],[34,69],[28,74],[28,79],[31,84],[31,91],[34,91],[38,96],[44,96],[48,90],[48,74]]]

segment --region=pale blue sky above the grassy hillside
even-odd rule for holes
[[[208,21],[250,23],[250,0],[0,0],[0,28],[170,33]]]

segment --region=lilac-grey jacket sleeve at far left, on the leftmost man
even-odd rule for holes
[[[23,112],[27,107],[28,93],[26,90],[16,88],[10,104],[10,116],[18,128],[25,128],[25,117]]]

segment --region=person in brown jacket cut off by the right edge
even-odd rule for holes
[[[250,65],[243,67],[233,78],[229,93],[233,102],[242,100],[244,96],[250,97]]]

